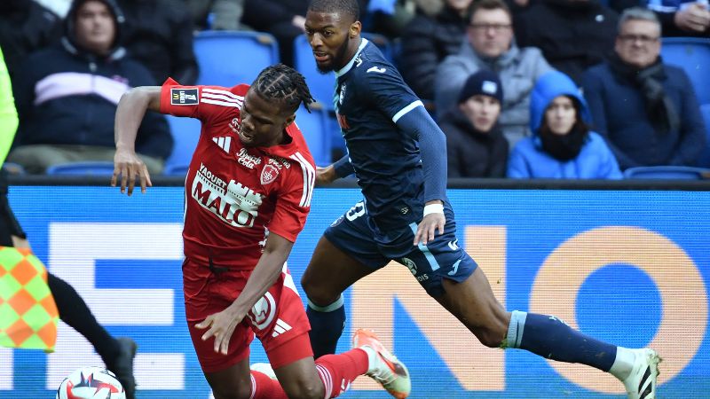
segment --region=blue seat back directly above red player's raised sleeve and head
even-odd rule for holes
[[[266,66],[279,62],[276,39],[263,32],[202,31],[194,37],[200,65],[198,84],[232,87],[254,82]]]

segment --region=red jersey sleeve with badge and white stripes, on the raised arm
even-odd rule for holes
[[[162,83],[161,113],[195,118],[209,125],[213,121],[239,115],[243,94],[247,90],[248,85],[231,89],[219,86],[182,86],[169,78]]]

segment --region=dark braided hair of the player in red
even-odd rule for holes
[[[303,102],[305,109],[310,113],[310,105],[315,101],[311,90],[308,90],[308,86],[305,84],[304,75],[283,64],[265,68],[261,74],[256,76],[251,87],[256,89],[262,98],[285,104],[293,112],[296,112],[298,106]]]

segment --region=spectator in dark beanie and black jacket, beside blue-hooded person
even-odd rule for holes
[[[503,87],[497,74],[471,74],[458,97],[458,106],[439,121],[446,134],[449,177],[504,177],[508,140],[498,126]]]

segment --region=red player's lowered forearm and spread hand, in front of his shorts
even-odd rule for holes
[[[209,315],[204,321],[195,325],[197,328],[209,328],[202,334],[202,340],[215,337],[215,352],[227,354],[229,340],[232,338],[234,328],[247,316],[249,309],[253,308],[266,291],[279,278],[283,264],[291,253],[294,243],[284,239],[273,232],[266,239],[264,254],[256,263],[254,271],[247,280],[247,285],[236,300],[225,310]]]

